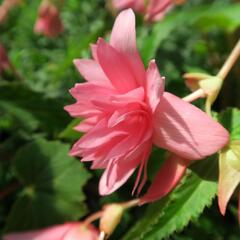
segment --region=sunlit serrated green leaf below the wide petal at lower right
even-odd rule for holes
[[[217,183],[211,180],[211,176],[217,169],[217,160],[209,158],[196,164],[201,176],[190,171],[171,194],[149,205],[144,217],[133,226],[124,240],[160,240],[169,237],[196,219],[212,203]]]

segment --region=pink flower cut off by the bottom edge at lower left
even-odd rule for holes
[[[36,231],[7,234],[3,240],[98,240],[98,235],[94,226],[73,222]]]

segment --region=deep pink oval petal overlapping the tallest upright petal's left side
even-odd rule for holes
[[[97,43],[99,63],[112,85],[120,93],[137,87],[135,77],[123,55],[99,39]]]

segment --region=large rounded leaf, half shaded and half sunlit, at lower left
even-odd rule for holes
[[[82,187],[89,174],[68,151],[69,145],[39,139],[17,152],[14,168],[24,189],[7,219],[7,232],[73,221],[86,214]]]

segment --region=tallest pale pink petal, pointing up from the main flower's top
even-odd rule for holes
[[[145,81],[145,69],[136,46],[135,15],[131,9],[122,11],[115,20],[110,45],[122,53],[139,86]]]

